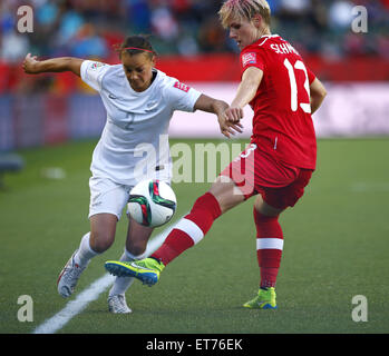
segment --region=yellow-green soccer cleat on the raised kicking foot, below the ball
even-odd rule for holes
[[[159,280],[159,274],[165,265],[154,258],[145,258],[130,263],[107,260],[105,268],[114,276],[135,277],[143,284],[153,286]]]

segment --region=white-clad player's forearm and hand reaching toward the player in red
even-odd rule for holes
[[[194,109],[215,113],[217,116],[221,132],[225,137],[230,138],[230,135],[242,132],[242,125],[240,122],[231,122],[226,119],[224,112],[226,109],[228,109],[228,107],[230,106],[225,101],[213,99],[202,93],[197,99]]]

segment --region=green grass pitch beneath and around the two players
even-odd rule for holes
[[[31,333],[101,277],[105,260],[117,259],[123,251],[125,216],[114,246],[91,261],[75,296],[68,300],[57,294],[60,269],[89,230],[88,178],[95,144],[21,151],[25,170],[4,177],[6,188],[0,191],[2,334]],[[148,288],[135,281],[127,293],[133,314],[109,314],[106,291],[58,333],[388,333],[388,139],[319,140],[311,184],[302,200],[280,218],[285,244],[276,312],[241,307],[254,296],[259,283],[253,200],[249,200],[216,220],[201,244],[165,269],[158,285]],[[60,167],[66,177],[45,178],[42,170],[48,167]],[[208,186],[175,184],[175,218]],[[33,300],[33,322],[18,320],[21,295]],[[367,322],[352,318],[357,295],[368,303]]]

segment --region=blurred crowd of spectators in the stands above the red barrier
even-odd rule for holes
[[[152,34],[159,55],[237,52],[221,27],[218,0],[1,0],[0,61],[39,57],[109,58],[126,34]],[[298,50],[327,58],[389,58],[389,0],[270,0],[272,32]],[[33,10],[33,31],[17,30],[20,6]],[[354,33],[352,9],[368,11],[368,32]],[[20,18],[20,17],[19,17]]]

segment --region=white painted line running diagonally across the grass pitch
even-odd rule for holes
[[[147,245],[146,254],[152,255],[165,240],[171,228],[167,227],[163,233],[154,237]],[[96,300],[115,280],[111,275],[104,275],[95,280],[87,289],[81,291],[76,299],[70,300],[64,309],[58,312],[51,318],[39,325],[32,334],[54,334],[61,329],[72,317],[81,313],[89,303]]]

